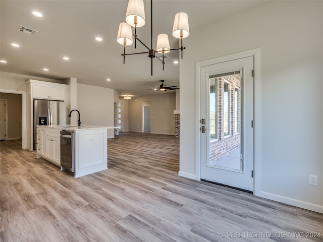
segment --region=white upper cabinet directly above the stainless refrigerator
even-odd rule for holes
[[[32,98],[65,100],[67,85],[29,80],[31,84]]]

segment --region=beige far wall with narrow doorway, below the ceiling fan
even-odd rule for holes
[[[150,133],[175,135],[175,92],[129,100],[129,131],[143,131],[142,104],[150,102]]]

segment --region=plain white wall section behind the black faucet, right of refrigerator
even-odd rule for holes
[[[114,89],[77,84],[77,107],[83,125],[115,126]],[[107,138],[114,138],[114,129]]]

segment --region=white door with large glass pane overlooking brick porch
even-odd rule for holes
[[[201,179],[253,191],[253,57],[201,68]]]

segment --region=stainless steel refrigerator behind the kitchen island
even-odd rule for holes
[[[64,101],[34,99],[34,150],[36,149],[36,125],[66,125],[68,109]]]

